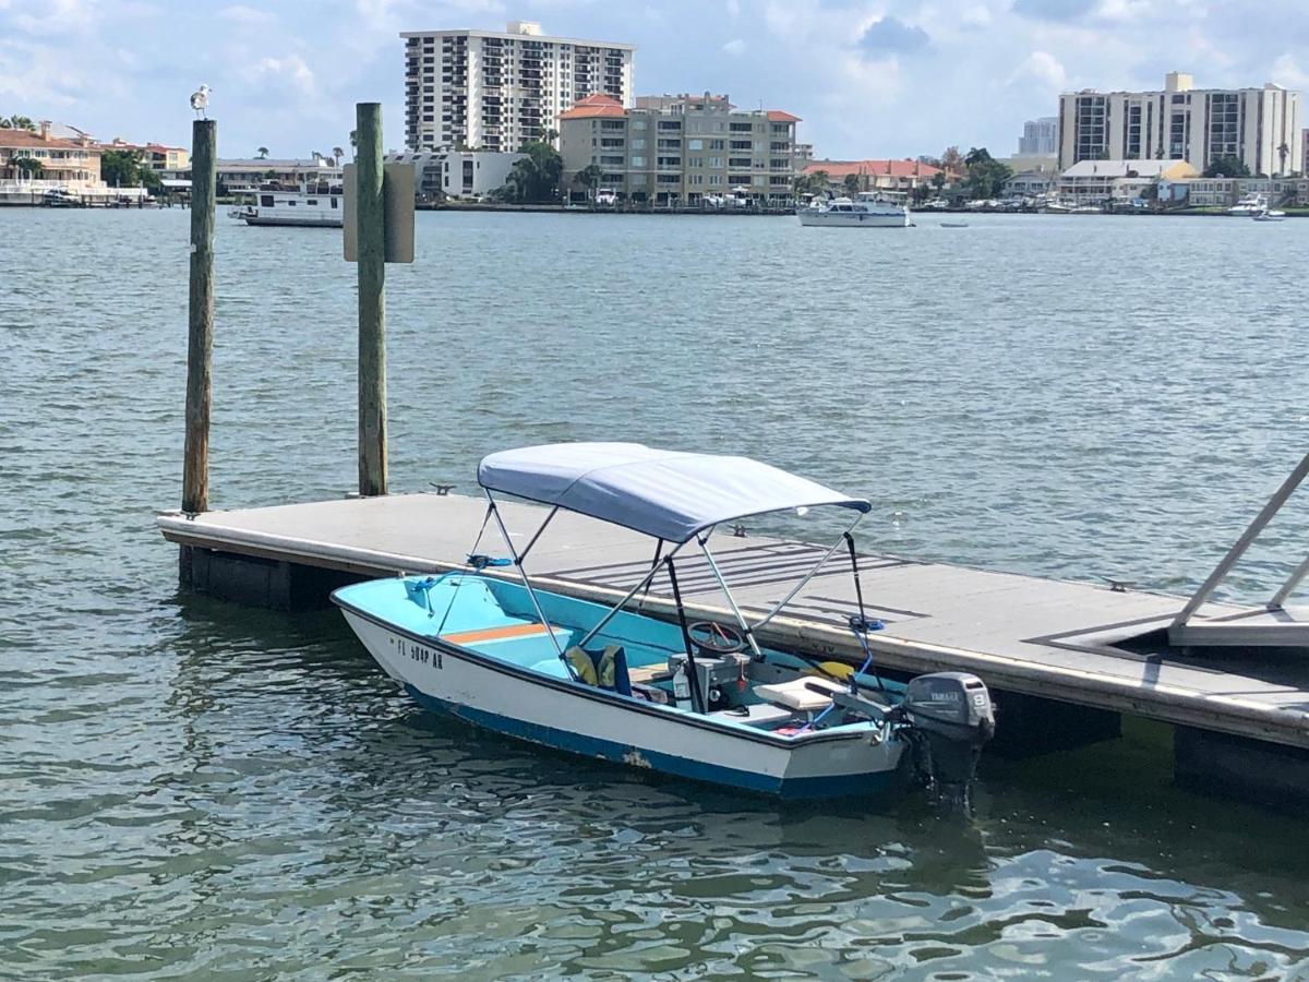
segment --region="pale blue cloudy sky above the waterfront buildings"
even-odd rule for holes
[[[795,113],[831,158],[1007,156],[1060,92],[1157,89],[1169,71],[1309,89],[1304,0],[0,0],[0,115],[186,145],[206,82],[224,157],[330,153],[363,101],[398,149],[399,33],[518,18],[637,45],[637,94]]]

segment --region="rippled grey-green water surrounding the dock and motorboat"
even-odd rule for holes
[[[418,224],[398,490],[732,449],[869,496],[877,549],[1185,592],[1309,445],[1309,223]],[[418,712],[332,613],[179,596],[186,227],[0,211],[0,975],[1309,978],[1302,821],[1173,788],[1158,729],[988,759],[973,830],[778,808]],[[215,507],[340,495],[339,238],[223,221],[217,268]]]

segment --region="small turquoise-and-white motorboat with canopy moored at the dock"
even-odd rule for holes
[[[787,799],[886,795],[918,775],[939,800],[967,809],[995,728],[990,694],[966,673],[895,682],[877,672],[869,636],[881,623],[863,609],[852,536],[868,501],[745,457],[619,443],[492,453],[478,482],[488,503],[483,532],[493,521],[507,556],[474,551],[462,570],[332,593],[419,704],[590,759]],[[548,507],[521,549],[497,495]],[[780,601],[738,605],[715,558],[715,528],[812,508],[853,518]],[[529,577],[525,559],[560,511],[653,539],[649,571],[611,606]],[[863,664],[766,644],[770,622],[843,549]],[[691,619],[679,588],[689,576],[716,583],[726,606]],[[649,596],[656,581],[672,602]]]

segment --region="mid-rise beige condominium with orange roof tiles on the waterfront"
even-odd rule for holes
[[[798,122],[780,110],[738,111],[708,93],[641,96],[631,109],[590,96],[559,114],[564,186],[576,192],[579,174],[596,166],[596,189],[632,202],[736,195],[781,203],[793,196]]]

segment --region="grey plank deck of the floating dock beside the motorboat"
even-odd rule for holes
[[[418,494],[195,517],[174,512],[161,515],[158,526],[169,541],[206,555],[372,576],[462,566],[484,512],[482,499]],[[501,513],[521,545],[545,509],[505,504]],[[496,554],[499,545],[488,528],[482,551]],[[753,534],[717,534],[713,549],[747,611],[779,600],[821,554],[818,546]],[[683,555],[678,580],[689,609],[726,617],[703,559]],[[651,541],[636,533],[560,513],[528,567],[554,589],[617,600],[645,573],[651,558]],[[967,670],[1000,691],[1309,749],[1309,655],[1170,648],[1166,627],[1183,597],[890,555],[863,556],[861,575],[868,611],[885,623],[870,635],[884,668]],[[662,576],[645,609],[670,614]],[[788,606],[789,617],[767,625],[762,639],[857,660],[861,652],[844,623],[853,609],[848,563],[834,556]],[[1208,604],[1198,622],[1263,615]]]

